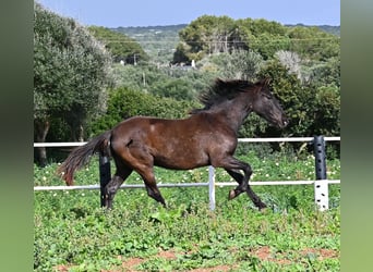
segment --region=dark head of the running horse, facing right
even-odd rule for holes
[[[270,124],[284,128],[289,124],[280,103],[269,90],[269,81],[261,81],[257,86],[251,108],[260,116],[267,120]]]

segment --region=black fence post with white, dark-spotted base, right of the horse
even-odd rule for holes
[[[326,182],[326,156],[325,140],[323,136],[314,136],[313,138],[314,156],[315,156],[315,173],[316,181],[315,203],[320,211],[325,211],[329,208],[328,184]]]

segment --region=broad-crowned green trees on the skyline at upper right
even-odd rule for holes
[[[339,37],[318,27],[289,27],[263,18],[234,21],[228,16],[204,15],[181,29],[179,36],[175,62],[200,61],[210,54],[249,49],[265,60],[281,50],[313,60],[326,60],[339,53]]]

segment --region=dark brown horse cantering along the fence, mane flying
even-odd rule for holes
[[[280,128],[288,124],[279,102],[269,91],[268,81],[216,79],[200,100],[205,107],[192,110],[186,119],[134,116],[122,121],[86,145],[75,148],[58,172],[68,185],[72,185],[74,171],[99,151],[112,157],[117,166],[105,187],[107,208],[112,207],[118,188],[132,171],[144,180],[148,196],[166,206],[156,184],[155,165],[173,170],[213,165],[224,168],[239,184],[229,191],[229,199],[246,191],[258,209],[265,208],[266,205],[249,185],[252,174],[250,164],[236,159],[233,153],[238,129],[251,112]]]

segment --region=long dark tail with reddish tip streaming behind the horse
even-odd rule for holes
[[[71,151],[69,157],[58,168],[57,173],[62,176],[67,185],[73,185],[74,172],[86,165],[92,154],[96,151],[110,156],[111,131],[105,132],[91,139],[84,146],[80,146]]]

